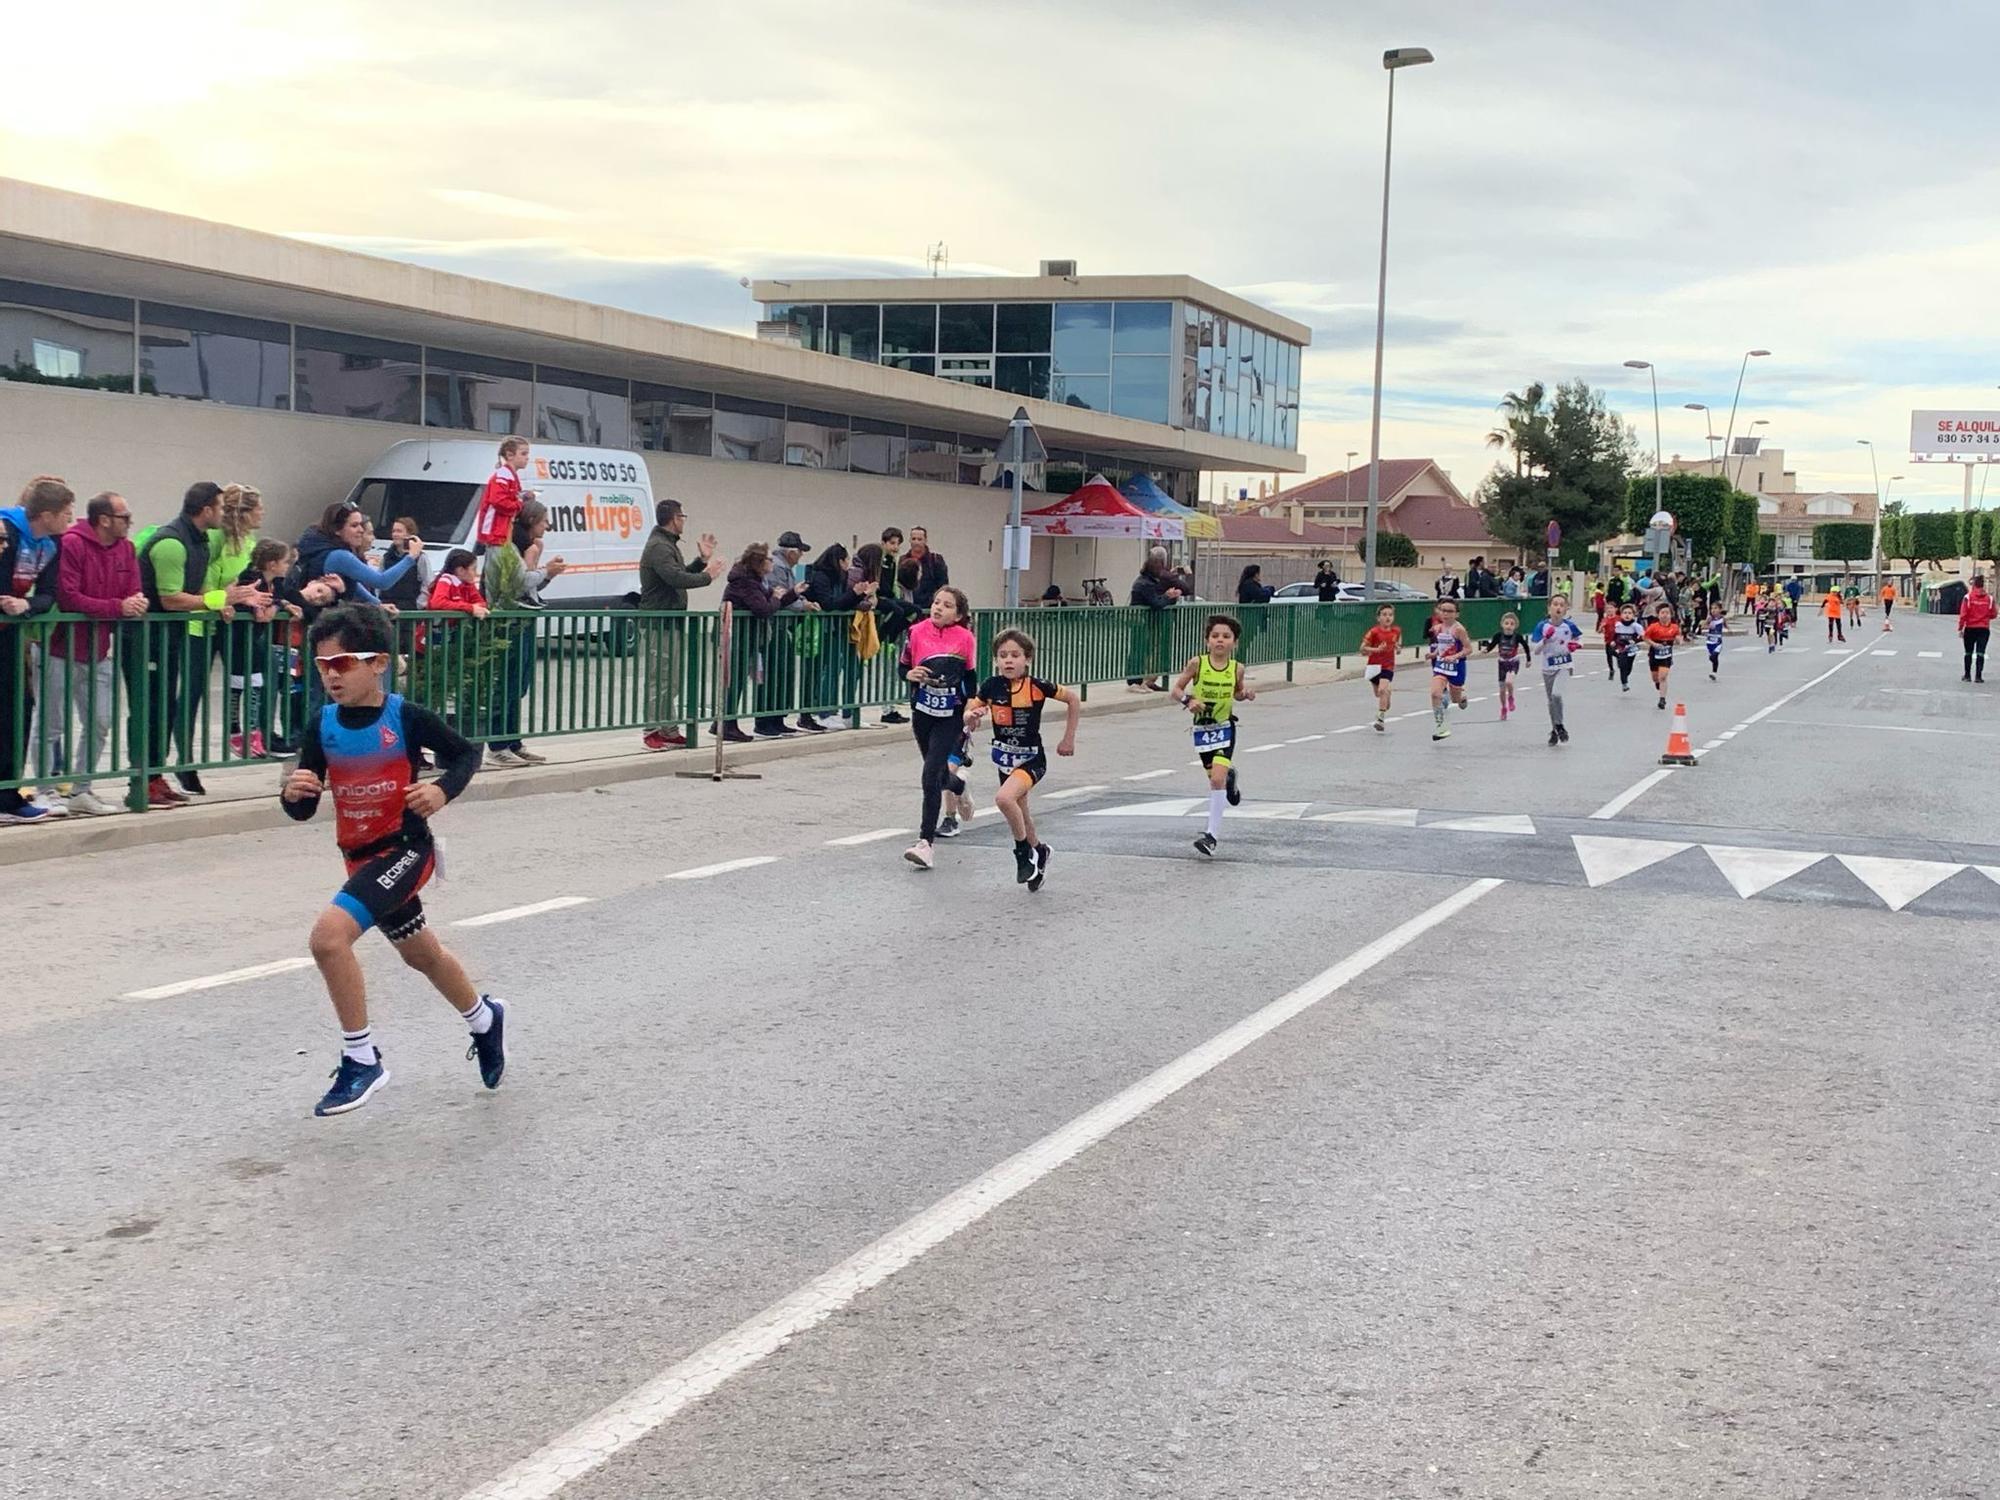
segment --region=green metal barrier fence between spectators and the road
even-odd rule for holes
[[[1422,652],[1428,602],[1394,606],[1404,646]],[[1506,612],[1532,628],[1546,600],[1464,600],[1474,640]],[[1360,654],[1370,604],[1244,604],[976,610],[980,666],[1000,630],[1036,640],[1036,672],[1090,686],[1172,678],[1204,650],[1210,616],[1242,622],[1238,654],[1258,670]],[[858,722],[864,708],[908,696],[902,636],[866,660],[854,616],[736,616],[728,702],[718,702],[720,616],[642,610],[530,610],[396,616],[388,686],[432,708],[468,740],[510,744],[562,734],[676,728],[690,744],[724,720],[802,714]],[[0,790],[54,794],[116,788],[106,800],[146,806],[162,776],[276,764],[324,704],[304,626],[154,614],[92,620],[44,614],[0,622]],[[120,786],[122,784],[122,786]]]

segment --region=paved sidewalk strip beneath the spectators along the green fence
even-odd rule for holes
[[[1360,658],[1352,666],[1332,662],[1300,662],[1294,680],[1284,680],[1284,666],[1250,668],[1258,692],[1286,688],[1318,688],[1330,682],[1352,682],[1362,674]],[[1136,714],[1172,710],[1172,700],[1160,692],[1128,692],[1122,682],[1090,686],[1084,714]],[[798,756],[840,754],[842,750],[876,750],[906,742],[908,724],[882,724],[882,710],[862,710],[864,728],[798,734],[788,740],[758,740],[754,744],[724,744],[726,766],[764,766]],[[708,736],[704,736],[708,738]],[[546,766],[520,770],[482,770],[466,788],[468,802],[536,796],[542,792],[588,792],[592,786],[642,782],[656,776],[710,776],[716,766],[714,742],[698,750],[642,750],[636,730],[604,734],[564,734],[534,742],[548,756]],[[914,754],[914,752],[912,752]],[[912,760],[914,764],[914,760]],[[60,818],[34,828],[0,828],[0,866],[60,860],[72,854],[100,854],[142,844],[178,844],[190,838],[222,838],[250,834],[284,824],[276,802],[284,766],[278,762],[244,766],[240,770],[206,770],[202,782],[208,796],[186,808],[168,812],[122,812],[112,818]]]

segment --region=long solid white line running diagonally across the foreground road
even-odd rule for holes
[[[1436,906],[1384,932],[1332,968],[1314,974],[1290,994],[1244,1016],[1226,1032],[1148,1074],[1130,1088],[1042,1136],[1018,1156],[982,1172],[924,1212],[904,1220],[874,1244],[858,1250],[796,1292],[772,1302],[750,1320],[668,1366],[646,1384],[584,1418],[562,1436],[522,1458],[498,1478],[472,1490],[466,1500],[548,1500],[570,1480],[600,1468],[622,1448],[640,1442],[672,1422],[694,1402],[714,1394],[728,1380],[776,1354],[790,1340],[820,1326],[920,1256],[936,1250],[994,1208],[1032,1188],[1062,1164],[1096,1146],[1120,1126],[1138,1120],[1162,1100],[1204,1078],[1244,1048],[1270,1036],[1288,1020],[1312,1010],[1356,978],[1408,948],[1432,928],[1464,912],[1472,902],[1500,888],[1500,880],[1474,880]]]

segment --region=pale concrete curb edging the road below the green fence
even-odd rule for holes
[[[1312,680],[1272,682],[1258,692],[1280,692],[1288,688],[1320,688],[1334,682],[1360,680],[1360,668],[1336,668],[1330,674],[1314,674]],[[1126,694],[1124,684],[1092,684],[1100,698],[1092,698],[1084,712],[1100,718],[1104,714],[1138,714],[1146,708],[1166,706],[1166,696],[1150,692],[1144,698]],[[1116,692],[1118,696],[1110,696]],[[898,726],[888,726],[898,728]],[[634,730],[636,734],[636,730]],[[826,756],[842,750],[868,750],[904,740],[898,734],[872,734],[868,730],[838,730],[828,734],[798,736],[792,740],[760,740],[756,744],[732,746],[728,766],[762,766],[778,760],[798,760],[804,756]],[[626,782],[650,782],[662,776],[692,774],[706,780],[714,766],[714,746],[700,750],[658,752],[646,750],[630,756],[606,756],[602,760],[580,760],[566,766],[528,766],[526,770],[480,772],[466,788],[462,802],[502,802],[522,796],[542,796],[554,792],[588,792],[598,786],[622,786]],[[270,768],[278,772],[274,762]],[[78,854],[110,854],[152,844],[184,844],[194,838],[228,838],[236,834],[256,834],[282,828],[286,820],[268,798],[232,798],[216,804],[196,804],[172,812],[126,812],[116,818],[64,818],[60,824],[36,830],[0,834],[0,868],[36,864],[40,860],[66,860]]]

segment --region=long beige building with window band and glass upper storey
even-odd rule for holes
[[[54,472],[80,494],[116,488],[146,522],[172,514],[190,480],[250,482],[278,536],[412,436],[632,448],[654,494],[684,500],[728,554],[784,528],[854,546],[888,524],[928,526],[980,604],[1000,594],[994,446],[1016,406],[1050,448],[1050,466],[1028,474],[1038,488],[1144,472],[1192,496],[1202,472],[1304,466],[1280,412],[1296,418],[1306,328],[1190,278],[836,286],[872,288],[876,358],[856,358],[852,336],[844,356],[722,334],[0,178],[0,448],[8,484]],[[1002,330],[1032,334],[1020,308],[1038,302],[1048,350],[1016,364]],[[950,360],[976,358],[958,348],[964,308],[992,308],[990,368],[926,370],[922,316],[890,316],[918,304],[936,308],[932,340],[954,346],[932,358]],[[1172,348],[1188,346],[1188,308],[1194,408],[1206,388],[1214,412],[1222,390],[1220,426],[1176,420],[1188,360],[1154,352],[1162,324]],[[834,318],[830,298],[822,326],[856,320]],[[1086,368],[1106,320],[1104,368]],[[1124,572],[1122,550],[1136,570],[1136,542],[1038,540],[1028,592],[1074,592],[1092,556],[1098,572]]]

